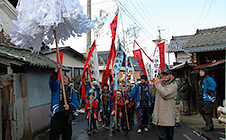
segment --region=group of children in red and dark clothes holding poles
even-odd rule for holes
[[[129,130],[134,125],[135,101],[125,104],[125,100],[131,91],[123,85],[119,85],[115,95],[109,90],[109,85],[104,83],[103,89],[98,88],[97,83],[91,83],[88,93],[88,101],[85,105],[86,119],[88,120],[88,135],[98,133],[98,115],[102,118],[103,128],[110,129],[110,116],[112,118],[112,132]],[[98,113],[100,112],[100,113]]]

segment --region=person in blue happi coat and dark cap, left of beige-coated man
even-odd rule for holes
[[[145,132],[148,132],[148,119],[149,108],[151,107],[151,96],[149,92],[149,85],[147,84],[146,75],[141,76],[140,84],[137,84],[132,89],[125,103],[128,104],[134,98],[136,98],[138,112],[137,133],[141,134],[142,129],[144,129]]]

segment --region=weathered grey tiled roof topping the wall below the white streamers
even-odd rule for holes
[[[9,57],[18,61],[22,61],[29,66],[43,67],[43,68],[55,68],[56,62],[49,59],[42,54],[32,53],[30,50],[26,50],[19,47],[10,47],[0,45],[0,56]]]

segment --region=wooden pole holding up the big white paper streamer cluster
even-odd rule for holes
[[[61,63],[61,61],[60,61],[60,52],[59,52],[59,47],[58,47],[58,42],[57,42],[57,36],[56,36],[56,30],[53,30],[53,33],[54,33],[55,42],[56,42],[57,55],[58,55],[58,62]],[[61,76],[60,81],[61,81],[62,90],[63,90],[64,104],[67,105],[67,99],[66,99],[66,94],[65,94],[65,88],[64,88],[64,80],[63,80],[62,69],[60,69],[60,76]]]

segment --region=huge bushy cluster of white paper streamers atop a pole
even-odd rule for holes
[[[16,7],[17,20],[14,20],[11,42],[17,46],[38,52],[42,41],[53,44],[53,29],[57,41],[62,44],[69,37],[81,36],[94,27],[78,0],[20,0]]]

